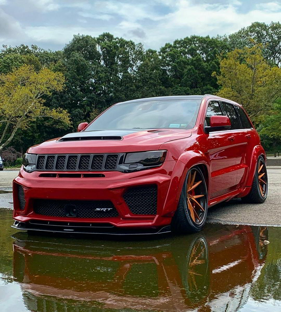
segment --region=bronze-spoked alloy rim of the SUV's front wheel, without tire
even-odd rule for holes
[[[205,220],[207,213],[207,190],[202,173],[192,168],[186,182],[186,211],[196,225]]]

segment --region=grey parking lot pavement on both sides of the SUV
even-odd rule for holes
[[[210,208],[207,222],[222,224],[281,226],[281,166],[268,167],[269,192],[263,204],[243,204],[240,199],[224,202]],[[0,172],[0,208],[12,208],[12,190],[15,171]]]

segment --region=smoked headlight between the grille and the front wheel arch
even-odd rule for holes
[[[167,151],[128,153],[124,163],[141,164],[145,167],[160,166],[164,163]]]

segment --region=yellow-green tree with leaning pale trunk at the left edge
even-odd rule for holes
[[[23,65],[11,73],[0,75],[0,151],[13,139],[19,128],[26,129],[38,117],[51,117],[70,124],[66,110],[50,109],[43,96],[61,91],[64,76],[42,68]]]

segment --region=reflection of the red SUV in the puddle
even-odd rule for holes
[[[267,227],[221,225],[160,241],[22,234],[14,235],[13,274],[27,309],[40,312],[237,311],[259,276],[268,237]]]

